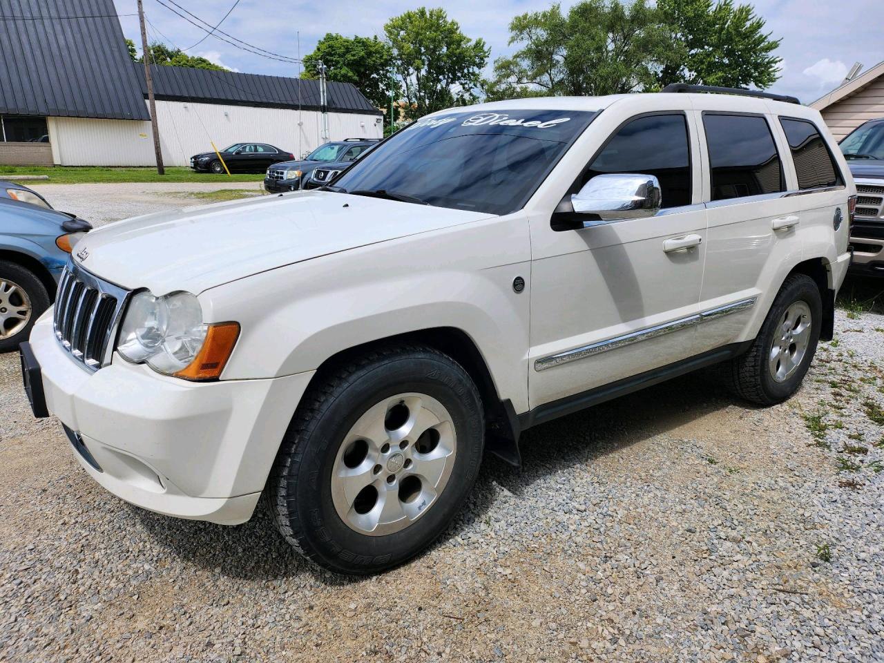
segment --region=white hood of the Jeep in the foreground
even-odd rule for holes
[[[286,264],[490,216],[304,191],[118,221],[89,232],[73,259],[118,286],[196,294]]]

